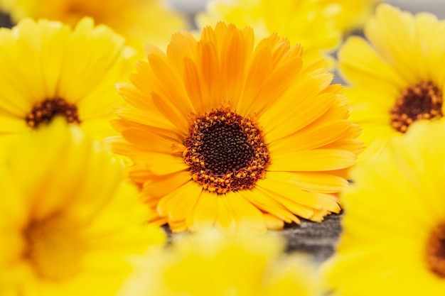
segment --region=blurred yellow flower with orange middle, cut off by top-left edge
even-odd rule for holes
[[[183,16],[161,0],[0,0],[0,8],[13,21],[49,18],[74,26],[84,16],[111,27],[134,46],[147,42],[166,45],[173,32],[186,26]]]

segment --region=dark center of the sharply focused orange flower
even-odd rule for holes
[[[193,180],[220,194],[252,188],[270,162],[257,124],[224,109],[193,115],[183,155]]]

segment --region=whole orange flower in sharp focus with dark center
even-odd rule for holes
[[[323,61],[302,66],[301,46],[278,35],[254,48],[252,28],[225,23],[147,55],[118,85],[130,107],[117,110],[114,150],[133,160],[129,176],[159,214],[150,220],[265,231],[339,211],[362,144]]]

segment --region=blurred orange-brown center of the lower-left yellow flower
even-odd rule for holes
[[[73,277],[80,270],[82,242],[77,229],[60,215],[31,221],[23,231],[23,253],[36,274],[44,280],[58,281]]]

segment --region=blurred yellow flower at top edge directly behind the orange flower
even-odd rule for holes
[[[323,11],[325,10],[326,11]],[[341,31],[334,26],[335,16],[328,6],[311,0],[240,0],[208,1],[198,13],[198,27],[214,26],[218,21],[242,28],[252,26],[259,38],[272,33],[289,38],[291,45],[301,43],[306,61],[326,57],[341,42]]]

